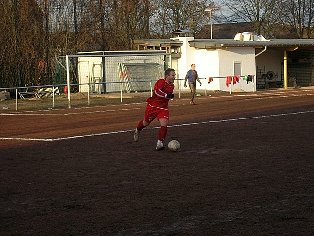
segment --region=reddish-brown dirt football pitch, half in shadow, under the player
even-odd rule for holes
[[[314,89],[0,111],[0,236],[313,236]]]

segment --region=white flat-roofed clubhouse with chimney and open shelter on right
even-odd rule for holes
[[[182,81],[191,64],[202,80],[197,89],[229,91],[227,77],[240,75],[232,90],[254,91],[271,87],[313,86],[313,39],[273,39],[240,33],[234,39],[194,39],[192,32],[177,30],[170,39],[136,40],[138,49],[171,52],[170,63]],[[253,82],[244,76],[253,75]],[[213,81],[208,83],[209,78]],[[293,83],[292,83],[293,82]],[[197,83],[198,84],[198,83]],[[183,83],[179,83],[181,89]]]

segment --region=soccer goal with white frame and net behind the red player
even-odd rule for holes
[[[78,92],[89,94],[149,91],[171,68],[166,51],[101,51],[66,56],[68,107],[71,108],[70,59],[76,61]],[[74,60],[75,59],[75,60]]]

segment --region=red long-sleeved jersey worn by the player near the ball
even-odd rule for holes
[[[167,98],[167,94],[173,93],[173,89],[175,89],[173,83],[169,84],[166,79],[159,79],[154,85],[153,96],[147,98],[146,102],[151,107],[168,110],[170,99]]]

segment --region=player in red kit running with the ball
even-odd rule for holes
[[[154,85],[153,96],[147,98],[147,106],[145,110],[144,119],[139,121],[134,133],[134,140],[138,141],[139,133],[146,126],[157,118],[160,122],[160,129],[158,132],[158,141],[156,150],[160,151],[165,149],[163,141],[167,135],[167,125],[169,121],[168,102],[174,98],[173,89],[175,88],[173,82],[176,79],[174,69],[167,69],[165,71],[165,78],[159,79]]]

